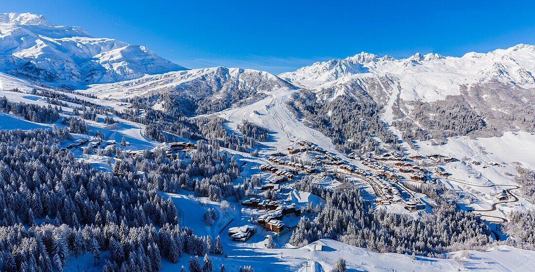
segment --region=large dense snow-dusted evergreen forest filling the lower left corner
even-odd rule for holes
[[[60,150],[68,137],[56,127],[0,131],[2,271],[63,271],[68,255],[89,253],[107,272],[148,272],[184,252],[221,254],[219,238],[178,226],[174,203],[147,179],[97,171]]]

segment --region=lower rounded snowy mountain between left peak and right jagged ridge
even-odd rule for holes
[[[214,94],[257,92],[296,87],[268,72],[227,67],[212,67],[164,74],[145,75],[141,78],[89,86],[84,92],[101,98],[121,99],[146,96],[158,92],[187,94],[197,99]]]

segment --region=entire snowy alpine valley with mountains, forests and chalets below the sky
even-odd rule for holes
[[[187,69],[0,13],[0,270],[529,271],[535,46]]]

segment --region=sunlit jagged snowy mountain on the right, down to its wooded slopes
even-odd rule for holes
[[[462,57],[416,53],[394,59],[362,52],[317,62],[279,77],[313,89],[323,99],[344,94],[372,97],[384,107],[386,122],[410,117],[414,102],[445,100],[464,101],[488,121],[492,115],[527,114],[524,111],[531,106],[526,101],[531,101],[530,90],[535,88],[533,72],[535,46],[518,44]],[[503,121],[501,117],[496,120],[495,124]]]

